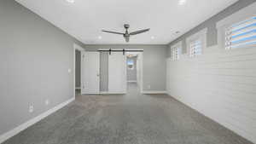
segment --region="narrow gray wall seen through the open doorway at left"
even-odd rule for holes
[[[81,52],[76,50],[76,87],[81,87]]]

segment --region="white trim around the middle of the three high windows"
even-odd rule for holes
[[[190,44],[192,41],[196,39],[201,39],[201,54],[203,55],[204,50],[207,48],[207,28],[202,29],[200,32],[197,32],[190,37],[186,38],[186,45],[187,45],[187,54],[190,57]]]

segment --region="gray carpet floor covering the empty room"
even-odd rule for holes
[[[79,95],[4,144],[251,144],[168,95]]]

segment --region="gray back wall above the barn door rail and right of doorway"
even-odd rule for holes
[[[166,45],[84,45],[84,48],[92,51],[97,49],[144,49],[143,90],[166,90]]]

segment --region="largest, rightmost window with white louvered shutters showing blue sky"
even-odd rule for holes
[[[256,46],[256,17],[243,20],[225,30],[225,49]]]

